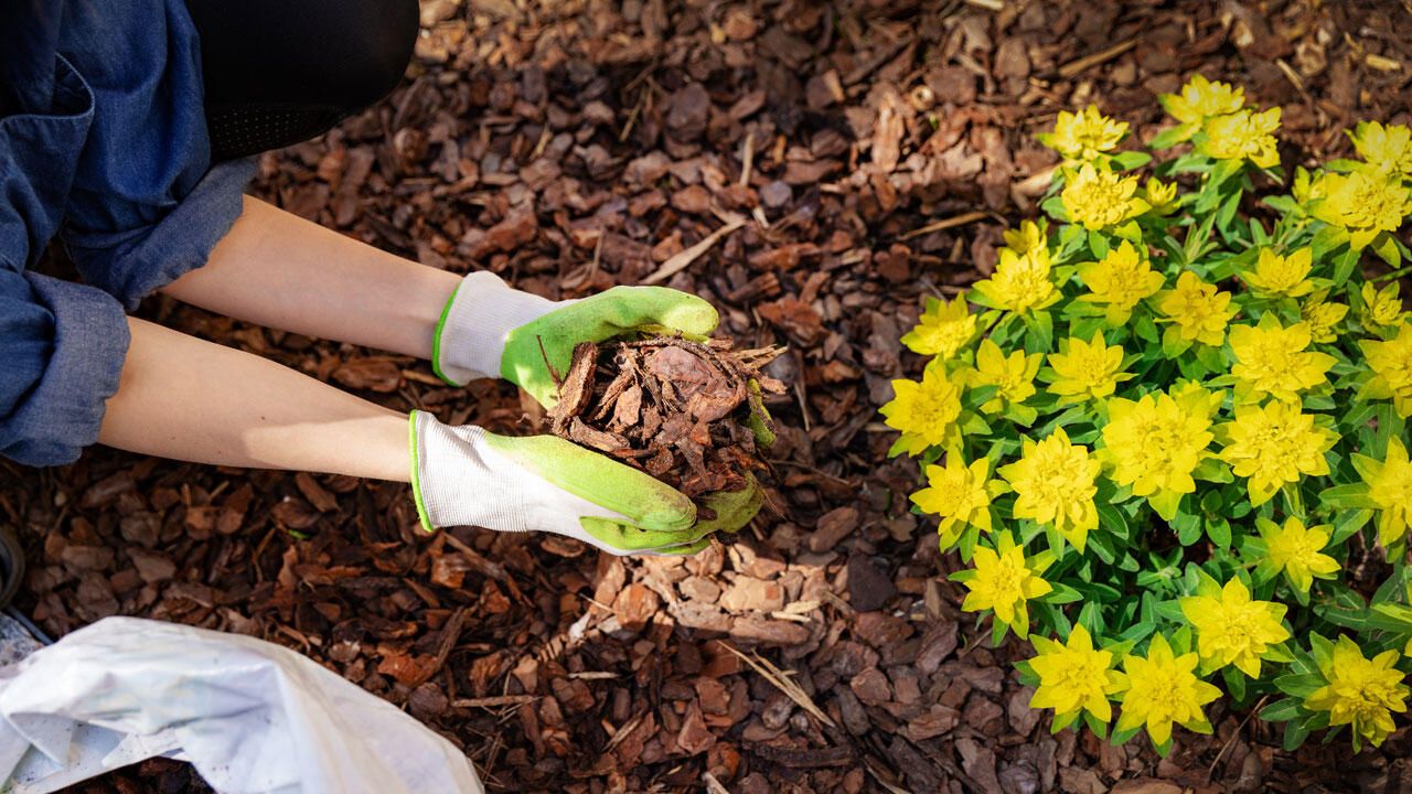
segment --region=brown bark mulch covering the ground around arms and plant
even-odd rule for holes
[[[92,449],[0,462],[52,634],[107,615],[298,648],[402,705],[491,791],[1401,791],[1412,737],[1353,756],[1211,709],[1159,762],[1027,708],[1014,641],[957,610],[916,466],[875,407],[921,359],[921,298],[988,273],[1053,164],[1034,133],[1096,102],[1141,138],[1192,72],[1285,109],[1286,165],[1408,122],[1412,6],[1014,0],[820,4],[429,0],[404,86],[267,154],[253,191],[435,267],[572,297],[681,267],[741,348],[789,343],[770,456],[785,520],[690,559],[556,538],[421,534],[400,485]],[[952,219],[947,222],[947,219]],[[692,246],[743,222],[703,254]],[[145,314],[398,410],[542,428],[504,384],[270,332]],[[525,414],[530,421],[524,421]],[[301,540],[302,538],[302,540]],[[792,699],[786,689],[794,689]],[[148,762],[85,793],[202,790]]]

